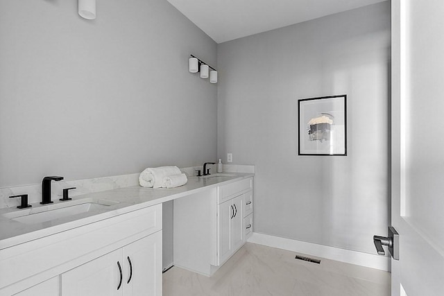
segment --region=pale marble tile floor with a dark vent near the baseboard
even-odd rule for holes
[[[389,272],[328,259],[309,263],[296,254],[246,243],[212,277],[171,268],[163,275],[163,295],[390,295]]]

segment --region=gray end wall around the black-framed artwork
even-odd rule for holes
[[[255,164],[255,232],[375,253],[389,224],[389,1],[218,44],[218,155]],[[298,98],[348,95],[348,156],[298,156]]]

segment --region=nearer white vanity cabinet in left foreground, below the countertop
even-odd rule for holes
[[[162,204],[0,250],[0,275],[0,296],[160,296]]]

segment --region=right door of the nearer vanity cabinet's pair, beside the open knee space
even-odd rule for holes
[[[123,295],[162,295],[162,231],[123,247]]]

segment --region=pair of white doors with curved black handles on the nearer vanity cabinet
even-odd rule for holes
[[[162,295],[162,233],[62,274],[62,296]]]

